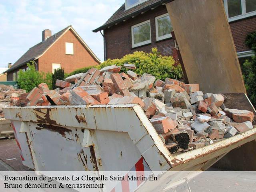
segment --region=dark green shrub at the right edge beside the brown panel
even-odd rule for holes
[[[242,74],[248,97],[256,106],[256,32],[248,34],[246,45],[254,51],[254,56],[252,56],[252,60],[246,60],[242,64]]]

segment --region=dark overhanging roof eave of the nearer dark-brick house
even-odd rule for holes
[[[102,25],[102,26],[100,26],[100,27],[98,27],[98,28],[92,30],[92,32],[96,33],[96,32],[98,32],[98,31],[104,30],[104,29],[106,29],[106,28],[110,28],[110,26],[113,26],[113,25],[115,25],[116,23],[122,22],[123,20],[127,20],[127,19],[129,19],[129,18],[132,18],[132,16],[135,17],[135,16],[137,16],[138,14],[141,14],[142,12],[146,12],[146,11],[148,11],[148,10],[151,10],[151,8],[156,8],[157,6],[160,6],[161,4],[166,4],[166,3],[169,3],[169,2],[171,2],[171,1],[174,1],[174,0],[161,0],[161,1],[159,1],[159,2],[156,2],[156,3],[154,3],[154,4],[151,4],[151,5],[149,5],[149,6],[146,6],[146,7],[142,8],[142,9],[136,11],[136,12],[133,12],[133,13],[131,13],[131,14],[128,14],[128,15],[122,17],[122,18],[119,18],[119,19],[117,19],[117,20],[114,20],[113,22],[110,22],[109,24]]]

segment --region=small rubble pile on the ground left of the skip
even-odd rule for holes
[[[0,84],[0,118],[4,117],[2,109],[18,104],[19,96],[26,93],[23,89],[15,89],[12,86]]]

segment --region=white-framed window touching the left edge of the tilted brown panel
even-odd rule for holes
[[[156,20],[156,40],[162,40],[172,37],[172,24],[169,14],[160,15],[155,18]]]

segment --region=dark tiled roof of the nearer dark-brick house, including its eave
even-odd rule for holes
[[[138,4],[128,10],[125,10],[125,3],[99,28],[93,30],[93,32],[98,32],[102,29],[107,28],[108,26],[112,26],[115,22],[121,22],[124,19],[131,18],[132,16],[136,16],[142,10],[150,10],[151,8],[156,8],[161,4],[168,3],[172,0],[147,0]]]

